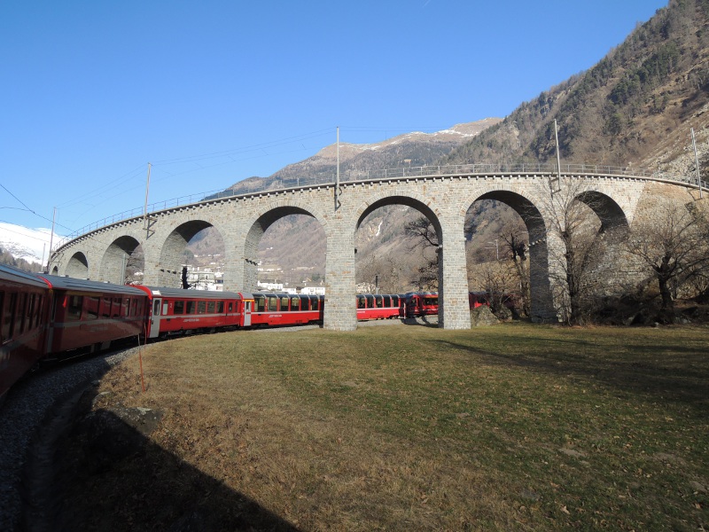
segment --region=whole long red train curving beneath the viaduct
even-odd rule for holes
[[[437,293],[363,293],[355,301],[359,320],[438,313]],[[473,293],[470,301],[471,308],[487,304]],[[0,265],[0,402],[49,355],[96,351],[130,337],[317,323],[323,309],[324,298],[317,295],[120,286]]]

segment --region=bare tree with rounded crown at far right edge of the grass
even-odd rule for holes
[[[693,204],[661,201],[652,220],[635,223],[627,251],[639,257],[658,281],[661,298],[658,319],[674,322],[672,285],[705,278],[709,269],[707,218]]]

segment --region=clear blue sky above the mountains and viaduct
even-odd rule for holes
[[[666,0],[0,3],[0,222],[67,233],[335,142],[504,117]]]

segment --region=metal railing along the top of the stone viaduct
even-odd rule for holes
[[[709,184],[702,181],[697,183],[694,176],[682,176],[662,171],[650,171],[643,168],[633,167],[614,167],[608,165],[596,164],[564,164],[561,168],[557,168],[553,163],[520,163],[520,164],[463,164],[463,165],[447,165],[447,166],[422,166],[422,167],[403,167],[403,168],[383,168],[377,170],[354,171],[347,170],[340,174],[340,183],[350,182],[375,182],[380,180],[393,179],[419,179],[419,178],[436,178],[447,176],[500,176],[506,174],[541,174],[553,175],[560,172],[565,175],[584,175],[584,176],[627,176],[640,179],[653,179],[660,181],[675,182],[681,184],[690,184],[701,186],[701,189],[707,189]],[[248,196],[260,192],[284,192],[294,188],[307,188],[314,186],[334,186],[336,176],[333,173],[321,174],[315,177],[298,177],[298,178],[277,178],[277,179],[247,179],[243,182],[235,184],[233,189],[214,190],[209,192],[199,192],[187,196],[180,196],[171,200],[157,201],[148,205],[147,214],[164,211],[175,207],[183,207],[200,203],[202,201],[221,200],[224,198]],[[137,218],[145,215],[144,207],[136,207],[130,210],[123,211],[116,215],[106,216],[101,220],[90,223],[73,231],[58,241],[55,246],[55,251],[65,246],[74,239],[81,237],[92,231],[120,223],[132,218]]]

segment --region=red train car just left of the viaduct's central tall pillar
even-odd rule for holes
[[[252,325],[305,325],[323,321],[322,295],[253,293]]]

